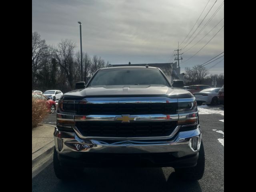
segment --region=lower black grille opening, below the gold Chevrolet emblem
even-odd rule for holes
[[[177,122],[76,122],[83,136],[101,137],[152,137],[168,136]]]

